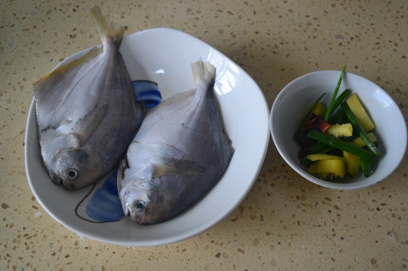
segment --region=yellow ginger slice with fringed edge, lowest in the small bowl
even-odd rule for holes
[[[309,167],[309,173],[318,178],[342,178],[346,173],[345,163],[340,159],[319,160]]]

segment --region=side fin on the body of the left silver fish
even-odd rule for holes
[[[95,106],[89,113],[72,127],[71,133],[79,138],[79,144],[82,146],[85,141],[93,134],[100,122],[105,118],[108,112],[108,105]]]

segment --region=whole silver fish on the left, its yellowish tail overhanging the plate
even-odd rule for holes
[[[144,115],[119,46],[125,28],[91,9],[102,45],[34,83],[41,156],[50,178],[78,190],[125,154]]]

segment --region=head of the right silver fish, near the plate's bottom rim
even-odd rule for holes
[[[157,184],[143,179],[132,182],[119,192],[123,213],[139,225],[161,222],[166,209],[164,196]]]

